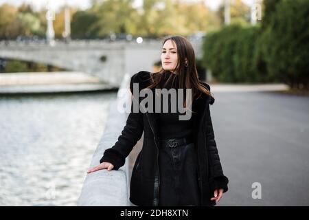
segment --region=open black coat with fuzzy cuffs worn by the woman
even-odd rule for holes
[[[133,83],[139,83],[139,91],[147,87],[150,83],[150,72],[138,72],[131,77],[130,91],[132,94]],[[201,83],[210,91],[207,83]],[[140,102],[142,99],[137,100]],[[198,120],[194,120],[192,129],[194,129],[194,144],[198,152],[201,205],[214,206],[216,201],[210,201],[210,198],[214,197],[214,190],[223,188],[226,192],[229,180],[223,175],[211,123],[209,104],[214,103],[214,98],[203,94],[198,100],[198,117],[196,117]],[[158,113],[142,113],[141,111],[133,113],[131,111],[122,135],[119,135],[112,148],[106,149],[100,159],[100,163],[111,162],[114,165],[113,169],[117,170],[124,165],[126,157],[144,131],[143,146],[137,156],[130,181],[130,201],[137,206],[157,206],[159,203],[158,115]]]

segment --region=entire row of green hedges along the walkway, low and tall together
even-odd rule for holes
[[[282,82],[308,88],[309,1],[269,1],[264,5],[272,10],[265,8],[262,28],[235,24],[207,34],[203,65],[220,82]]]

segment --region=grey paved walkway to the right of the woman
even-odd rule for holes
[[[211,88],[215,139],[230,181],[218,206],[308,206],[309,96]],[[261,199],[252,197],[255,182]]]

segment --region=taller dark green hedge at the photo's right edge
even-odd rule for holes
[[[269,74],[298,89],[309,89],[308,14],[308,0],[282,0],[262,34]]]

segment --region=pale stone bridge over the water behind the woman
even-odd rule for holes
[[[45,63],[98,76],[102,82],[119,87],[124,74],[152,71],[161,60],[161,41],[73,40],[16,42],[0,41],[0,58]],[[201,41],[192,42],[196,57],[201,58]]]

